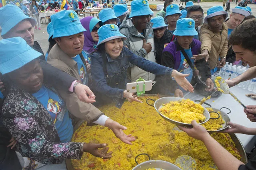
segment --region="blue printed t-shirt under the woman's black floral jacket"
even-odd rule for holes
[[[60,142],[70,142],[73,135],[73,125],[65,102],[56,93],[45,87],[32,94],[48,111],[60,137]],[[57,117],[56,117],[57,116]]]

